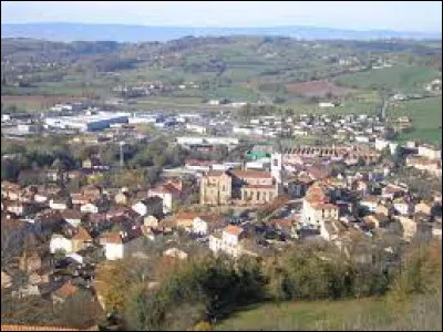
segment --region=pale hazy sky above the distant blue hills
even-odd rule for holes
[[[441,1],[1,1],[1,23],[278,27],[441,32]]]

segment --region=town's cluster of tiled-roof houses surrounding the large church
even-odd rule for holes
[[[385,138],[387,129],[377,118],[300,116],[281,122],[278,116],[262,116],[251,118],[247,126],[229,126],[229,116],[225,116],[228,121],[179,116],[175,123],[182,123],[182,132],[202,131],[205,135],[182,135],[169,144],[197,153],[220,146],[234,152],[245,137],[254,142],[285,133],[328,132],[336,142],[281,148],[253,144],[237,159],[188,158],[181,167],[163,169],[153,186],[140,184],[136,188],[86,185],[69,190],[60,185],[81,174],[93,177],[110,172],[111,166],[99,156],[84,159],[80,169],[42,170],[48,185],[2,181],[2,236],[8,234],[11,247],[11,259],[2,264],[2,289],[12,289],[14,297],[49,295],[60,303],[79,289],[94,290],[99,264],[147,257],[146,248],[168,236],[186,235],[202,248],[233,258],[272,255],[288,243],[311,239],[334,243],[347,252],[356,236],[371,238],[393,224],[400,227],[403,241],[442,236],[442,194],[418,196],[392,179],[393,162],[383,158],[383,154],[395,155],[401,149],[406,167],[441,180],[441,149],[393,143]],[[107,122],[112,122],[104,115],[87,121],[79,126],[87,131],[90,125],[110,126]],[[137,121],[167,123],[153,116]],[[205,125],[207,129],[199,129]],[[214,132],[209,126],[225,135],[207,134]],[[119,135],[133,133],[131,127],[126,129]],[[99,131],[91,137],[106,134]],[[73,139],[87,136],[79,137]],[[190,204],[192,196],[197,201]],[[14,251],[14,246],[24,250]],[[163,256],[174,259],[189,255],[174,241],[163,249]],[[18,270],[29,277],[24,286],[14,286]],[[91,294],[100,298],[100,292]]]

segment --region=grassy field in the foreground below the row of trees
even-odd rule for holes
[[[405,311],[385,300],[258,304],[220,321],[217,331],[441,331],[441,294],[416,297]]]

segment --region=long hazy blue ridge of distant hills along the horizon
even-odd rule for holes
[[[306,40],[441,39],[441,33],[389,30],[343,30],[317,27],[183,28],[86,23],[1,24],[1,38],[35,38],[53,41],[166,41],[186,35],[285,35]]]

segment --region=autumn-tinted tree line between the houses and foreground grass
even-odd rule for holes
[[[107,272],[99,271],[96,279],[106,281],[106,309],[119,314],[124,329],[136,331],[202,329],[204,322],[209,329],[235,310],[264,301],[383,294],[404,301],[414,293],[441,290],[441,243],[406,250],[395,269],[377,259],[380,252],[361,261],[339,252],[328,255],[331,250],[296,246],[266,259],[234,261],[207,255],[171,266],[117,262]],[[150,280],[158,283],[152,287]]]

